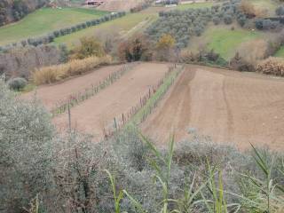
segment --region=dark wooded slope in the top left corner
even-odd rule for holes
[[[35,11],[48,2],[49,0],[1,0],[0,26],[21,20],[29,12]]]

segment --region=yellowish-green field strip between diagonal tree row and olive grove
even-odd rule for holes
[[[149,23],[156,19],[158,19],[158,13],[152,8],[143,12],[128,13],[117,20],[111,20],[98,26],[56,38],[54,43],[66,43],[68,47],[72,48],[79,43],[81,38],[87,36],[99,36],[99,34],[130,36],[134,32],[145,29]]]

